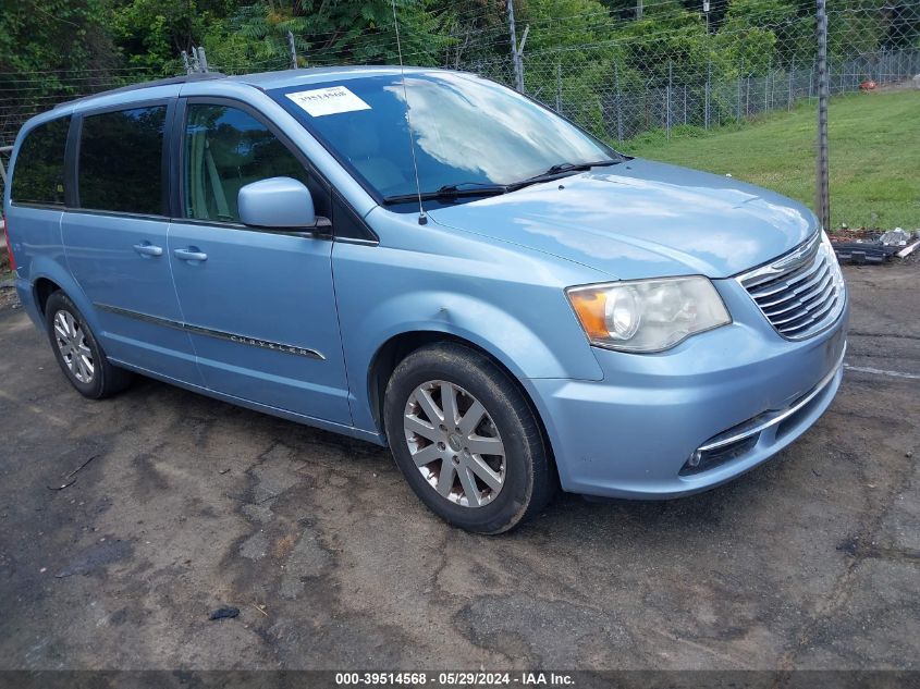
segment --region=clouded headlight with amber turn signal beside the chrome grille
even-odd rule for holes
[[[611,282],[566,290],[592,345],[623,352],[670,349],[732,322],[707,278]]]

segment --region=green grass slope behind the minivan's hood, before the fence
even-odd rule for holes
[[[746,125],[653,132],[617,148],[751,182],[814,207],[817,107]],[[920,227],[920,90],[831,100],[831,224]]]

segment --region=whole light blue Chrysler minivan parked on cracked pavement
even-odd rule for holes
[[[11,167],[16,288],[79,393],[142,373],[389,444],[473,531],[712,488],[841,383],[808,209],[471,74],[140,84],[29,120]]]

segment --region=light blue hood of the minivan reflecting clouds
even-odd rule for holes
[[[788,251],[818,226],[808,208],[778,194],[639,159],[428,214],[622,280],[728,278]]]

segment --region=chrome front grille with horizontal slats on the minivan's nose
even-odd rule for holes
[[[776,332],[788,340],[826,330],[844,308],[844,276],[823,236],[819,233],[772,263],[737,278]]]

